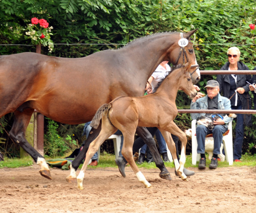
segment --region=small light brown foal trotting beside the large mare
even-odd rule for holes
[[[99,146],[118,129],[124,135],[122,154],[132,167],[132,170],[146,188],[151,184],[137,167],[132,154],[132,145],[137,126],[157,127],[164,136],[168,149],[172,153],[175,169],[182,180],[187,180],[183,173],[186,161],[185,150],[187,144],[186,134],[173,122],[178,114],[176,95],[178,90],[183,90],[190,98],[196,96],[191,76],[188,72],[191,63],[186,63],[183,68],[172,71],[160,84],[156,92],[141,97],[117,97],[112,102],[102,105],[92,119],[91,126],[98,128],[102,120],[101,131],[97,138],[90,144],[86,153],[84,165],[77,176],[78,189],[83,189],[84,172],[89,160],[99,149]],[[181,141],[180,164],[176,156],[175,143],[171,133],[178,136]]]

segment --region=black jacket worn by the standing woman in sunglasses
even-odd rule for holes
[[[228,70],[229,62],[225,63],[223,67],[220,68],[220,70]],[[238,70],[249,70],[249,68],[242,62],[237,63]],[[230,91],[230,80],[229,75],[217,75],[217,81],[220,84],[220,93],[223,94],[224,97],[229,97],[229,91]],[[252,83],[252,75],[237,75],[237,81],[236,81],[236,87],[243,87],[244,88],[244,94],[238,94],[239,99],[242,102],[242,107],[244,110],[251,110],[252,109],[252,100],[250,98],[249,94],[249,84],[246,83],[246,81]],[[251,114],[248,114],[246,118],[244,118],[244,124],[246,126],[252,125],[252,119]]]

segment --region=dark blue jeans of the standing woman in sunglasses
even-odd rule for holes
[[[232,110],[241,110],[242,105],[231,106]],[[236,117],[236,138],[234,141],[234,160],[239,160],[242,157],[242,145],[244,141],[244,118],[243,114],[237,114]]]

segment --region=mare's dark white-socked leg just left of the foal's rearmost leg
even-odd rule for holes
[[[86,138],[84,143],[84,148],[80,151],[80,153],[76,156],[76,158],[72,161],[70,165],[70,174],[66,177],[66,181],[71,183],[76,181],[76,170],[80,166],[81,162],[86,156],[86,152],[88,151],[88,147],[92,141],[96,139],[101,130],[101,123],[97,129],[92,128],[88,138]]]

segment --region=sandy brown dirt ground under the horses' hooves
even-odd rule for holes
[[[130,167],[88,170],[84,190],[69,184],[69,171],[52,168],[52,180],[38,167],[0,169],[1,213],[256,213],[256,167],[200,171],[189,181],[160,179],[159,170],[141,169],[146,189]]]

